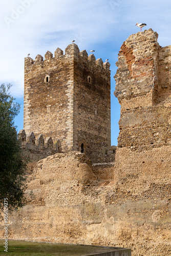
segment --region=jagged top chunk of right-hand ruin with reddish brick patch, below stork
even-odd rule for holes
[[[158,90],[158,34],[152,29],[131,35],[118,54],[115,96],[126,109],[153,105]]]

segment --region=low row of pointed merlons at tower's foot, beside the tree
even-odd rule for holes
[[[44,136],[41,134],[36,139],[33,132],[27,136],[25,130],[20,130],[18,140],[20,140],[22,147],[27,150],[40,152],[41,154],[45,153],[46,155],[61,153],[60,141],[57,140],[54,143],[52,137],[44,139]]]

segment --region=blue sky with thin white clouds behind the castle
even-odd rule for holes
[[[21,103],[15,119],[23,129],[24,58],[35,59],[49,50],[65,48],[72,40],[80,51],[95,50],[95,57],[111,63],[111,137],[117,145],[120,105],[113,95],[118,51],[138,23],[146,23],[159,34],[158,42],[171,45],[171,3],[168,0],[8,0],[1,1],[0,82],[11,83],[11,94]]]

